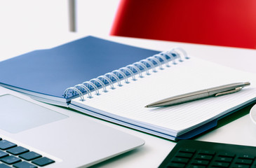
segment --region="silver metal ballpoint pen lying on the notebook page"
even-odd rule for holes
[[[196,92],[190,92],[190,93],[181,94],[175,97],[169,97],[167,99],[162,99],[158,102],[148,104],[145,107],[149,108],[149,107],[159,107],[159,106],[171,106],[175,104],[182,104],[184,102],[191,102],[197,99],[203,99],[206,97],[217,97],[224,94],[238,92],[242,90],[243,87],[248,85],[250,85],[249,82],[221,85],[221,86],[212,87],[206,90],[199,90]]]

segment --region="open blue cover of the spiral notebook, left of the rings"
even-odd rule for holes
[[[69,102],[68,87],[155,55],[159,51],[137,48],[86,36],[55,48],[35,50],[0,62],[0,85]]]

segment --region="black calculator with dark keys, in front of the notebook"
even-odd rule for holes
[[[162,167],[256,168],[256,147],[181,140],[160,165]]]

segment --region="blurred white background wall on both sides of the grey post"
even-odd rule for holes
[[[109,34],[119,0],[76,0],[77,32]],[[0,0],[1,32],[69,31],[68,0]]]

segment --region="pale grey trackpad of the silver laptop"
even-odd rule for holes
[[[0,129],[6,132],[18,133],[64,118],[68,116],[11,94],[0,96]]]

